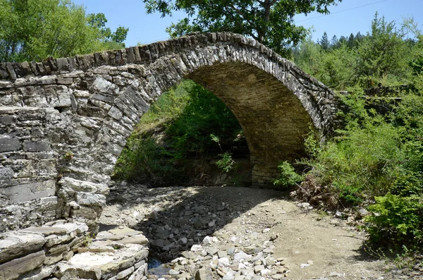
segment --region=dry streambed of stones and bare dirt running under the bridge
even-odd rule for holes
[[[162,260],[178,257],[152,279],[200,267],[225,280],[413,279],[362,252],[364,233],[297,204],[255,188],[116,185],[101,221],[143,231]]]

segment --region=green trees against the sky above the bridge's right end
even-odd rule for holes
[[[420,73],[423,51],[415,40],[405,39],[412,21],[405,20],[402,28],[386,22],[378,14],[372,20],[367,35],[322,37],[318,43],[305,39],[293,51],[295,63],[304,71],[336,90],[348,87],[402,85],[412,73]],[[418,31],[414,31],[419,34]],[[419,35],[420,36],[420,35]],[[420,77],[420,80],[421,77]]]

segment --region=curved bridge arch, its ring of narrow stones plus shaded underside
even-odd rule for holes
[[[271,185],[278,162],[303,155],[302,142],[310,123],[322,138],[327,135],[333,113],[331,90],[255,41],[231,34],[225,34],[233,36],[231,39],[223,37],[219,41],[212,35],[202,35],[212,38],[212,42],[188,44],[183,48],[166,46],[169,41],[159,42],[157,49],[162,49],[163,55],[159,54],[144,67],[132,68],[148,75],[135,78],[130,87],[120,92],[104,119],[93,150],[97,154],[93,164],[104,163],[97,172],[111,170],[122,148],[119,142],[124,140],[113,135],[114,130],[123,132],[130,126],[125,124],[128,118],[122,117],[128,106],[135,107],[126,114],[135,116],[135,123],[150,102],[181,78],[191,78],[207,87],[237,116],[251,152],[254,185]],[[195,38],[200,39],[199,36]],[[122,134],[128,135],[128,131]],[[111,144],[113,150],[109,150]]]

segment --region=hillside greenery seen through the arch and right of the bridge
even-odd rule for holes
[[[407,250],[423,242],[423,36],[416,26],[405,20],[398,28],[376,14],[366,35],[329,41],[325,34],[290,49],[300,68],[348,91],[340,94],[348,109],[340,112],[345,126],[325,145],[305,135],[309,157],[281,163],[275,182],[318,207],[367,207],[369,241]],[[391,92],[383,95],[364,92],[386,87]],[[143,116],[114,176],[152,185],[210,183],[209,163],[236,174],[237,151],[245,147],[231,111],[184,81]]]

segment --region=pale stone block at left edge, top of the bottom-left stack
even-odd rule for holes
[[[0,234],[0,264],[39,251],[46,243],[36,233],[12,231]]]

